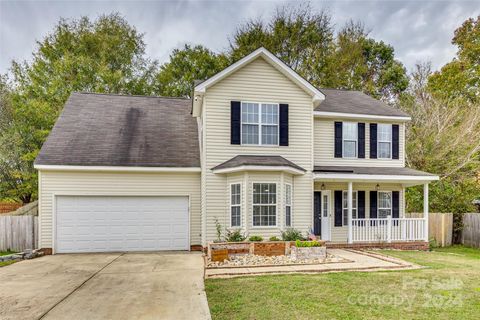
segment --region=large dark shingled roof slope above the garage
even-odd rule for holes
[[[73,93],[36,165],[200,167],[191,100]]]

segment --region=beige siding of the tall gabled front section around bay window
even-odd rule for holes
[[[289,105],[289,146],[242,146],[230,144],[230,102],[258,101]],[[294,183],[294,224],[307,231],[311,225],[313,159],[312,97],[278,70],[258,58],[207,89],[204,97],[203,123],[205,136],[205,228],[204,241],[215,237],[215,218],[225,221],[225,189],[227,178],[213,174],[211,168],[239,154],[281,155],[308,170],[296,176]],[[253,173],[252,173],[253,174]],[[280,179],[280,173],[277,173]],[[302,213],[302,214],[300,214]],[[278,234],[280,228],[271,233]],[[204,243],[205,244],[205,243]]]

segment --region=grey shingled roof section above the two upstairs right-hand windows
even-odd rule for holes
[[[325,95],[325,100],[315,108],[315,111],[410,117],[405,112],[360,91],[339,89],[320,89],[320,91]]]

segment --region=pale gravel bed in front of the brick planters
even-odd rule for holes
[[[228,267],[265,267],[279,265],[297,265],[297,264],[321,264],[321,263],[339,263],[351,262],[342,257],[334,256],[327,253],[325,259],[296,259],[292,255],[283,256],[257,256],[254,254],[232,255],[230,260],[223,262],[210,261],[207,262],[207,268],[228,268]]]

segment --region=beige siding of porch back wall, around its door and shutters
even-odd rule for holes
[[[376,190],[376,183],[353,183],[353,191],[365,191],[365,218],[370,217],[370,191]],[[321,191],[322,182],[315,182],[315,191]],[[332,242],[346,242],[348,227],[335,227],[335,190],[346,191],[347,183],[325,182],[325,190],[331,190],[330,196],[330,230]],[[405,217],[404,188],[401,184],[380,184],[379,191],[400,191],[400,217]]]

